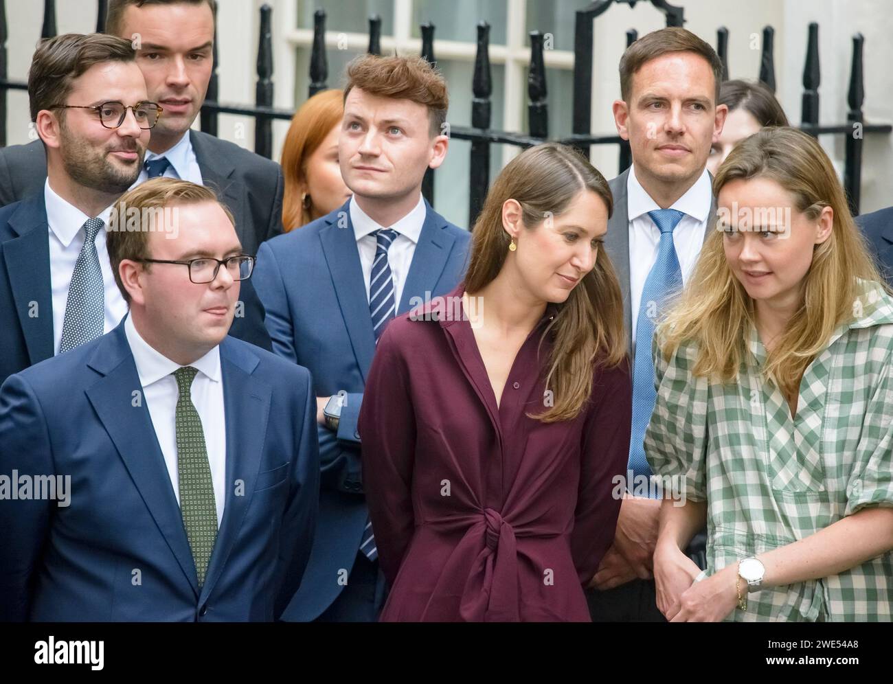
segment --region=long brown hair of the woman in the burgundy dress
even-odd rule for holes
[[[547,215],[566,211],[584,190],[601,197],[611,215],[613,197],[605,178],[571,147],[545,143],[506,164],[474,224],[465,291],[473,295],[502,271],[510,242],[502,221],[505,200],[521,204],[524,227],[534,230]],[[575,418],[592,392],[595,364],[616,366],[626,357],[620,283],[604,249],[598,251],[592,271],[556,308],[543,335],[551,335],[553,341],[546,387],[552,390],[555,404],[534,416],[543,422]]]

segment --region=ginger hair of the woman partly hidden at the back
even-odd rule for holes
[[[313,204],[305,205],[307,160],[344,116],[340,90],[323,90],[308,99],[291,118],[282,145],[282,228],[288,232],[313,220]],[[313,202],[313,197],[310,198]]]

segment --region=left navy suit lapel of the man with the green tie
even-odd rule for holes
[[[102,339],[88,365],[104,376],[88,388],[90,404],[197,597],[196,564],[152,418],[144,401],[134,405],[143,388],[123,321]]]

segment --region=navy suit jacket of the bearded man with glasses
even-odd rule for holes
[[[49,225],[43,190],[0,209],[0,384],[54,355]],[[243,280],[230,335],[271,350],[263,305]]]

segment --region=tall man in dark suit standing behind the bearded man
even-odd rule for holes
[[[146,99],[164,109],[138,182],[163,176],[213,188],[236,217],[242,247],[255,254],[263,240],[282,232],[280,165],[190,128],[211,79],[216,8],[215,0],[109,0],[105,30],[129,41]],[[45,176],[39,140],[0,148],[0,206],[41,190]]]

